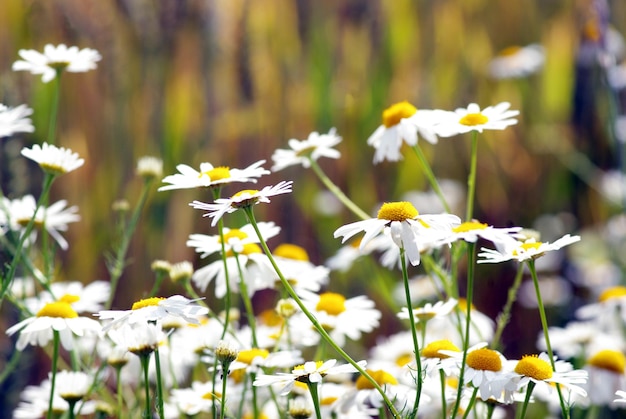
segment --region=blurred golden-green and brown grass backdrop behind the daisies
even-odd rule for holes
[[[204,161],[242,168],[266,159],[269,167],[272,152],[289,138],[336,127],[344,139],[342,159],[321,164],[363,208],[427,189],[410,150],[401,163],[371,163],[366,140],[382,110],[401,100],[448,110],[509,101],[521,110],[515,127],[481,136],[481,220],[531,226],[542,214],[565,211],[577,217],[577,227],[599,223],[620,209],[603,203],[563,164],[573,149],[612,152],[601,107],[584,108],[593,127],[572,125],[576,57],[598,3],[2,1],[0,102],[27,103],[36,125],[35,134],[1,144],[2,187],[10,197],[36,193],[37,170],[16,156],[22,146],[46,140],[53,92],[52,83],[12,72],[11,64],[19,49],[65,43],[95,48],[103,58],[96,71],[65,74],[62,81],[57,144],[77,151],[86,164],[52,191],[53,200],[67,199],[82,215],[66,234],[70,249],[61,255],[58,280],[108,277],[103,252],[111,249],[115,230],[111,205],[122,198],[134,203],[141,186],[134,167],[143,155],[162,157],[165,174],[175,173],[177,164]],[[623,33],[626,2],[607,4],[611,24]],[[530,43],[546,50],[542,71],[523,80],[489,78],[487,64],[498,51]],[[469,136],[423,149],[439,178],[464,184]],[[279,172],[259,185],[281,179],[295,181],[293,198],[259,207],[258,218],[279,223],[284,241],[304,246],[322,263],[339,247],[332,232],[354,217],[347,211],[312,217],[320,185],[304,170]],[[114,306],[127,307],[149,290],[153,260],[194,260],[185,246],[190,233],[215,233],[188,207],[194,199],[211,197],[201,190],[152,194]],[[481,306],[479,292],[479,308],[495,316],[501,301],[489,307],[489,297]]]

